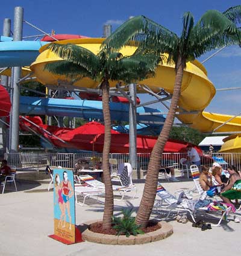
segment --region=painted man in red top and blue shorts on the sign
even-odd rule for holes
[[[69,229],[71,230],[71,215],[70,215],[70,203],[69,199],[74,195],[74,191],[71,185],[71,182],[67,178],[67,171],[63,172],[63,181],[61,182],[62,189],[62,197],[63,197],[63,213],[64,213],[64,224],[63,228],[65,228],[66,224],[66,210],[67,215],[69,217]]]

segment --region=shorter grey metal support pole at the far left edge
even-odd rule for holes
[[[2,35],[3,36],[10,36],[10,31],[11,31],[11,19],[4,19],[4,26],[3,26],[3,30],[2,30]],[[3,85],[7,89],[8,92],[10,91],[9,90],[10,87],[8,86],[8,77],[7,77],[7,75],[1,75],[1,85]],[[2,150],[3,150],[3,152],[8,152],[9,151],[9,130],[8,130],[8,127],[5,126],[5,124],[1,124],[0,132],[2,133],[2,135],[0,135],[0,141],[2,142]]]

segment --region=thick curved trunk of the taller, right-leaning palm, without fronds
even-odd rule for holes
[[[176,77],[174,83],[174,93],[172,95],[171,106],[166,117],[163,129],[161,130],[157,142],[155,143],[155,146],[151,152],[143,196],[136,216],[137,225],[142,225],[144,227],[146,227],[146,225],[148,224],[148,220],[151,216],[152,208],[154,206],[161,155],[163,153],[164,146],[174,123],[175,112],[178,106],[178,100],[181,92],[181,83],[183,81],[183,70],[185,65],[186,59],[178,56],[178,61],[175,69]]]

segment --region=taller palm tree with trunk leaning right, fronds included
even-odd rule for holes
[[[137,46],[137,52],[167,53],[167,63],[175,63],[175,83],[171,106],[163,129],[151,153],[146,175],[145,188],[136,217],[138,225],[146,226],[154,206],[158,182],[158,167],[169,132],[174,123],[175,112],[180,98],[183,72],[186,62],[200,57],[207,51],[222,46],[240,43],[240,29],[236,24],[241,20],[241,5],[231,7],[224,13],[209,10],[196,23],[193,15],[183,15],[181,36],[167,30],[145,16],[138,16],[122,24],[104,41],[104,47],[118,50],[123,44]],[[121,44],[119,43],[121,42]]]

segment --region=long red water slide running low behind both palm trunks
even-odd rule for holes
[[[90,150],[102,152],[104,146],[104,126],[98,122],[90,122],[76,129],[57,126],[47,126],[42,123],[40,117],[27,117],[33,123],[20,119],[20,127],[28,130],[28,127],[45,136],[55,147],[66,147],[70,149]],[[51,134],[49,134],[49,132]],[[137,135],[137,153],[151,153],[157,137]],[[187,142],[169,139],[164,152],[186,152]],[[198,153],[202,153],[196,147]],[[129,153],[129,135],[111,130],[110,153]]]

